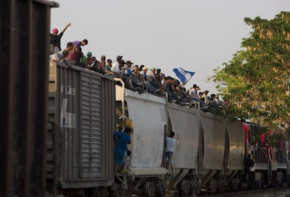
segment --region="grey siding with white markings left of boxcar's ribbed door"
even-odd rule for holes
[[[62,135],[62,181],[78,179],[79,166],[79,72],[66,65],[57,66],[56,123]]]

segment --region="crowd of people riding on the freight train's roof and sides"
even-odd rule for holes
[[[53,29],[50,33],[50,60],[64,62],[64,64],[72,64],[85,69],[90,69],[104,75],[113,75],[120,77],[125,83],[125,88],[137,91],[138,93],[152,93],[160,97],[166,97],[168,102],[185,107],[197,107],[200,104],[200,109],[209,111],[212,107],[222,107],[226,102],[221,102],[215,94],[209,95],[209,91],[200,91],[200,87],[196,84],[186,90],[185,84],[181,84],[179,80],[171,76],[165,76],[161,69],[155,67],[145,67],[133,64],[130,60],[123,60],[123,56],[118,55],[116,60],[106,59],[102,55],[100,59],[92,55],[92,52],[83,54],[82,47],[88,45],[88,40],[71,41],[67,43],[65,49],[61,49],[60,41],[67,30],[71,26],[68,23],[62,32],[58,34],[58,29]],[[128,121],[123,118],[123,121]],[[114,151],[115,172],[120,172],[121,169],[126,169],[127,160],[130,157],[130,151],[127,150],[127,144],[130,144],[130,132],[132,125],[125,123],[125,130],[117,130],[113,133],[116,138],[116,148]],[[165,157],[167,158],[166,168],[170,168],[171,158],[174,151],[174,132],[165,140]]]

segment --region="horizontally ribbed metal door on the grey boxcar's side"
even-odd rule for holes
[[[81,75],[81,172],[99,177],[101,168],[101,79]]]

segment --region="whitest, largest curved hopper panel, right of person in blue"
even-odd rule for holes
[[[126,90],[125,100],[134,126],[130,168],[160,168],[166,124],[164,98]]]

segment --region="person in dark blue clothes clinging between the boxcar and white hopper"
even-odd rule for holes
[[[125,128],[124,132],[114,132],[113,136],[118,138],[114,152],[115,173],[120,172],[123,165],[123,157],[127,151],[127,144],[131,144],[131,128]]]

